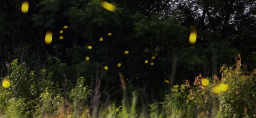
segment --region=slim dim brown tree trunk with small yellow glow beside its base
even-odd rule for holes
[[[176,48],[173,48],[170,88],[174,86],[177,61],[178,61],[177,50]]]

